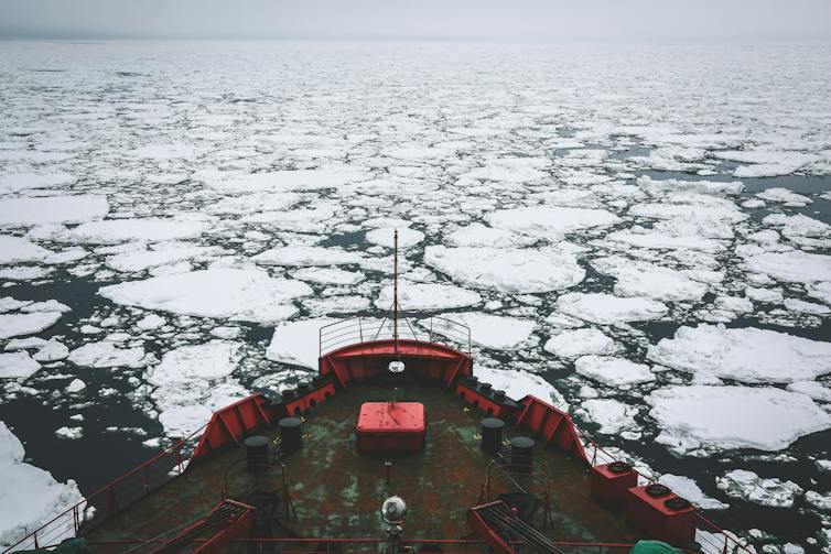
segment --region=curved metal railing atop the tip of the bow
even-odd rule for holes
[[[352,317],[338,319],[320,329],[319,356],[360,343],[391,340],[395,338],[392,321],[388,317]],[[410,322],[402,317],[398,324],[398,338],[438,343],[471,356],[471,328],[442,316],[430,316]]]

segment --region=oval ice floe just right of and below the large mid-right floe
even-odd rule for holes
[[[557,308],[570,316],[598,325],[658,319],[668,308],[649,298],[622,298],[603,293],[569,293],[557,298]]]

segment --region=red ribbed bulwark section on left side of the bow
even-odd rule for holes
[[[246,433],[260,425],[270,424],[270,409],[267,404],[268,401],[262,394],[257,393],[214,413],[191,456],[191,461],[229,444],[238,444],[239,438]]]

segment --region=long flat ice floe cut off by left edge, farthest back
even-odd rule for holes
[[[37,198],[0,199],[0,227],[41,224],[79,224],[99,219],[109,211],[106,196],[79,194]]]

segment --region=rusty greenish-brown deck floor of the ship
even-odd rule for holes
[[[361,453],[354,433],[360,404],[371,401],[422,402],[427,411],[427,446],[417,454]],[[540,500],[537,521],[549,490],[552,525],[542,531],[555,541],[634,542],[639,535],[619,514],[601,509],[589,496],[584,463],[564,453],[543,448],[535,457],[536,478],[493,480],[490,495],[483,484],[493,457],[479,447],[481,420],[485,415],[435,384],[408,382],[393,388],[382,382],[352,385],[304,416],[303,448],[282,459],[296,518],[277,506],[273,536],[380,537],[386,526],[379,518],[385,498],[398,495],[409,507],[404,524],[408,539],[462,539],[471,535],[465,514],[470,507],[511,492],[522,486]],[[527,434],[509,425],[505,439]],[[277,430],[260,434],[277,439]],[[508,446],[503,452],[507,455]],[[87,537],[93,541],[151,539],[205,514],[222,498],[224,480],[230,498],[242,502],[251,493],[273,492],[282,500],[281,472],[276,468],[251,474],[245,467],[244,448],[215,454],[184,475],[138,501]],[[387,480],[385,461],[391,461]],[[514,482],[516,480],[516,482]],[[539,526],[539,525],[538,525]]]

